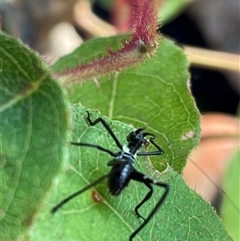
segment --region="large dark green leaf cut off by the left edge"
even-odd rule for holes
[[[68,110],[28,47],[0,32],[0,237],[20,240],[67,157]]]

